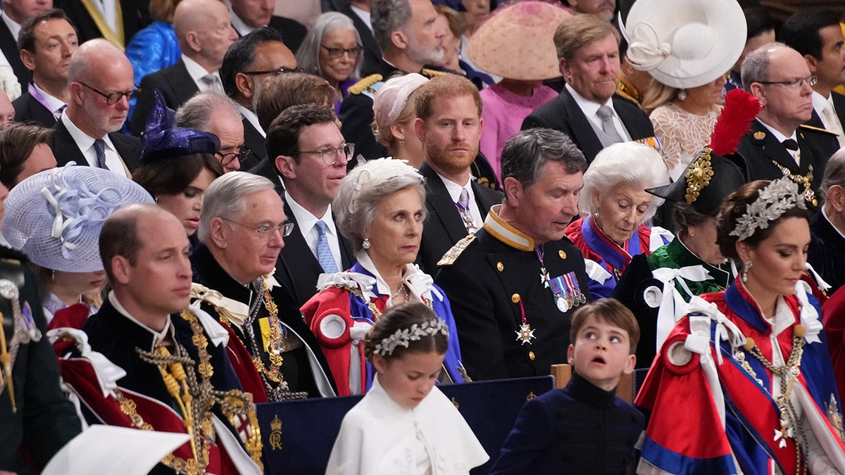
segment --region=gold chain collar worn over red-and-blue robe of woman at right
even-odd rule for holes
[[[799,473],[806,473],[807,467],[805,464],[801,463],[801,452],[804,451],[805,454],[809,454],[810,452],[809,447],[807,445],[807,438],[804,435],[804,427],[801,424],[801,420],[798,417],[798,414],[795,412],[795,408],[792,406],[790,401],[790,396],[792,393],[793,385],[795,383],[795,379],[798,378],[800,374],[801,368],[801,358],[804,356],[804,339],[806,330],[804,329],[804,325],[795,325],[793,329],[793,347],[792,351],[789,352],[789,358],[782,366],[775,366],[772,364],[763,353],[760,352],[760,347],[757,347],[755,341],[751,338],[748,338],[744,347],[745,350],[748,351],[751,356],[757,358],[766,369],[771,371],[772,374],[777,374],[781,377],[781,390],[780,393],[775,396],[775,401],[777,402],[777,407],[781,410],[782,418],[784,415],[786,416],[786,423],[791,425],[800,435],[800,439],[795,442],[795,467],[798,467]],[[772,348],[774,351],[774,348]],[[792,377],[790,377],[792,376]],[[786,430],[787,427],[782,425],[781,429],[783,431],[783,437],[786,437]]]

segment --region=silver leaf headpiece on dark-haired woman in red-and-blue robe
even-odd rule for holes
[[[796,206],[805,210],[804,195],[799,194],[795,186],[788,177],[782,177],[760,189],[757,199],[748,205],[743,216],[739,216],[737,226],[729,235],[744,241],[755,230],[769,227],[769,222],[777,220],[786,210]]]

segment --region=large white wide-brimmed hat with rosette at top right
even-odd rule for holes
[[[706,85],[733,67],[747,26],[736,0],[637,0],[619,29],[628,60],[664,85]]]

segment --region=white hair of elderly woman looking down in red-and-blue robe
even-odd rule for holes
[[[608,194],[619,184],[646,189],[668,183],[669,172],[660,152],[636,142],[613,144],[598,152],[584,173],[584,188],[581,188],[578,210],[583,215],[591,215],[596,211],[593,195]],[[662,198],[652,197],[651,205],[646,210],[646,219],[654,216],[657,206],[662,204]]]

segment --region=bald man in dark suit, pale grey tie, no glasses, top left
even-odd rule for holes
[[[182,57],[172,66],[141,79],[138,104],[129,120],[132,134],[144,132],[147,114],[160,90],[165,103],[177,109],[198,91],[223,92],[220,69],[223,56],[237,40],[229,10],[219,0],[183,0],[173,14],[173,28]]]

